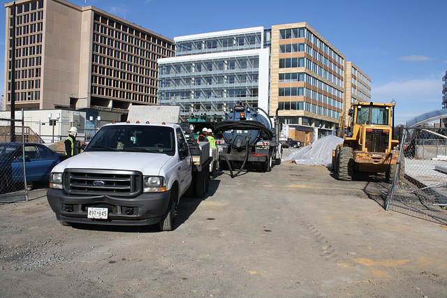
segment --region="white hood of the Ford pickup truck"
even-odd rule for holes
[[[174,156],[145,152],[82,152],[56,165],[52,172],[66,168],[140,171],[144,175],[159,175]]]

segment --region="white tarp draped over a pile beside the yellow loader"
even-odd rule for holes
[[[283,159],[283,161],[295,161],[298,165],[332,165],[332,150],[342,144],[343,139],[335,135],[327,135],[314,143],[300,148]]]

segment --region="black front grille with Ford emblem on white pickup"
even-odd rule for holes
[[[69,169],[64,172],[64,191],[71,195],[132,197],[142,191],[142,174],[136,171]]]

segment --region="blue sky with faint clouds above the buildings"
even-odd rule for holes
[[[6,3],[8,1],[3,1]],[[86,2],[86,4],[85,4]],[[168,38],[307,22],[372,80],[372,100],[395,98],[396,124],[441,108],[447,70],[445,0],[71,0]],[[3,8],[4,15],[4,8]],[[4,21],[0,47],[4,61]],[[3,73],[0,73],[3,82]],[[3,84],[0,86],[3,94]]]

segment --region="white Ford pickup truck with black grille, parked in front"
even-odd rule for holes
[[[105,125],[85,151],[53,168],[48,202],[62,225],[173,230],[182,195],[205,196],[208,146],[187,140],[178,124]]]

